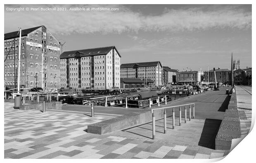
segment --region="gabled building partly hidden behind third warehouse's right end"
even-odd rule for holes
[[[178,72],[178,70],[171,69],[168,66],[163,66],[163,84],[172,85],[176,83],[176,73]]]

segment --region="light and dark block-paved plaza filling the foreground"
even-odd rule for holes
[[[209,105],[218,105],[214,108],[218,111],[223,103],[220,98],[225,101],[222,92],[211,91],[189,100],[202,103],[198,99],[207,97],[211,103],[217,101]],[[153,140],[152,123],[95,135],[87,132],[87,125],[113,118],[113,115],[95,114],[92,118],[81,112],[47,110],[42,113],[39,110],[16,110],[13,106],[13,103],[5,103],[5,158],[220,158],[229,152],[213,148],[223,111],[219,111],[222,114],[217,118],[201,119],[196,112],[197,119],[184,123],[183,117],[181,126],[175,117],[174,130],[172,116],[168,116],[166,134],[163,133],[163,120],[158,120],[156,139]],[[204,114],[206,112],[201,116]],[[247,129],[248,123],[244,124]]]

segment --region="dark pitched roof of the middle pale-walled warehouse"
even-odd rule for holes
[[[72,51],[63,52],[62,54],[60,54],[59,58],[63,59],[63,58],[78,57],[78,54],[79,54],[79,57],[92,56],[92,55],[104,55],[104,54],[108,54],[109,51],[112,50],[113,48],[115,48],[116,50],[115,46],[97,47],[97,48],[83,49],[83,50],[72,50]],[[121,57],[121,55],[117,50],[116,52],[119,55],[119,57]]]

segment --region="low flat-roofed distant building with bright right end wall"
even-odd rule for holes
[[[177,83],[180,84],[200,84],[204,80],[203,71],[181,71],[177,74]]]

